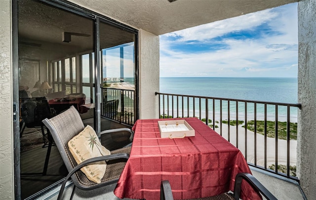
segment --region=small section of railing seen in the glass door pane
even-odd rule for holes
[[[134,90],[101,87],[101,117],[133,125]]]

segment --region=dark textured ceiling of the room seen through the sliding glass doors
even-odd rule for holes
[[[93,49],[94,21],[40,1],[18,2],[19,44],[22,46],[59,49],[50,59]],[[71,34],[70,42],[63,42],[63,32]],[[117,27],[100,24],[100,47],[108,48],[133,41],[133,34]],[[44,50],[43,50],[44,51]]]

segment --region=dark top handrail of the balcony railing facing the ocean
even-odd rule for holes
[[[205,96],[194,96],[194,95],[184,95],[184,94],[169,94],[169,93],[160,93],[155,92],[155,95],[170,95],[170,96],[181,96],[181,97],[194,97],[194,98],[202,98],[202,99],[216,99],[216,100],[224,100],[224,101],[239,101],[239,102],[246,102],[246,103],[257,103],[257,104],[271,104],[271,105],[278,105],[278,106],[292,106],[298,107],[299,109],[302,108],[300,103],[280,103],[280,102],[270,102],[270,101],[256,101],[256,100],[245,100],[245,99],[230,99],[230,98],[220,98],[220,97],[205,97]]]

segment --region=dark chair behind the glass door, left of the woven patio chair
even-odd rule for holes
[[[49,130],[46,129],[44,124],[41,122],[45,118],[51,118],[54,116],[54,111],[49,107],[49,104],[45,97],[43,98],[28,98],[25,99],[21,105],[21,122],[20,122],[20,138],[22,137],[25,127],[28,128],[39,128],[41,129],[43,146],[48,147],[46,158],[44,162],[43,171],[41,173],[22,173],[22,176],[35,176],[35,175],[46,175],[48,161],[50,156],[51,147],[53,144],[52,137]],[[45,130],[46,132],[45,133]]]

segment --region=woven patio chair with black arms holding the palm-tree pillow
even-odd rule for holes
[[[42,122],[50,130],[53,139],[56,143],[56,146],[69,172],[60,189],[58,200],[62,198],[62,194],[65,189],[65,184],[70,177],[74,182],[74,189],[71,195],[71,199],[74,196],[74,191],[76,187],[81,190],[93,190],[96,188],[116,183],[118,181],[118,178],[125,166],[125,163],[129,158],[131,144],[127,145],[124,148],[111,151],[111,155],[109,156],[88,159],[77,165],[77,162],[70,153],[67,145],[69,140],[71,140],[74,136],[76,136],[79,132],[81,132],[84,129],[83,122],[80,119],[80,115],[77,109],[74,106],[71,106],[68,110],[64,111],[63,113],[51,119],[46,118]],[[130,138],[132,138],[133,136],[133,132],[129,128],[105,130],[99,133],[98,136],[109,132],[119,131],[128,131],[131,134]],[[88,178],[80,171],[80,168],[85,165],[88,165],[89,163],[100,160],[107,160],[107,168],[105,175],[101,180],[101,183],[97,184],[95,182],[88,180]]]

